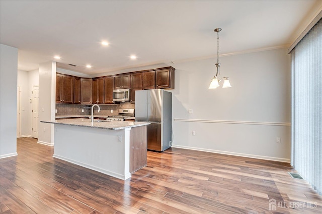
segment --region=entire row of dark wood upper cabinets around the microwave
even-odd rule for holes
[[[131,88],[131,101],[135,101],[137,90],[175,89],[175,69],[165,67],[93,79],[57,73],[56,103],[114,103],[113,89],[127,88]]]

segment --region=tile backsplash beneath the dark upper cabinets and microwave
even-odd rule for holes
[[[94,108],[95,115],[118,115],[118,109],[133,108],[135,107],[134,103],[130,102],[121,102],[120,104],[113,105],[99,105],[101,111],[97,112],[97,107]],[[64,115],[90,115],[92,105],[79,105],[79,104],[60,104],[56,103],[56,116]],[[82,112],[84,109],[84,112]],[[113,110],[113,113],[111,113]]]

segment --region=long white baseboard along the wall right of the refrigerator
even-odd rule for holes
[[[233,155],[233,156],[250,157],[250,158],[263,159],[263,160],[273,160],[273,161],[279,161],[279,162],[285,162],[285,163],[291,162],[291,159],[281,158],[281,157],[269,157],[269,156],[255,155],[255,154],[244,154],[244,153],[220,151],[220,150],[215,150],[215,149],[204,149],[204,148],[181,146],[181,145],[174,145],[174,144],[172,144],[172,147],[182,148],[182,149],[190,149],[190,150],[196,150],[196,151],[206,151],[206,152],[218,153],[218,154],[228,154],[228,155]]]

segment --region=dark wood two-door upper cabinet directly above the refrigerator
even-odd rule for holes
[[[175,89],[175,69],[167,67],[143,72],[143,89]]]

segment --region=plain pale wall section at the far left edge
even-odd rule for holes
[[[17,155],[18,49],[0,44],[0,158]]]

